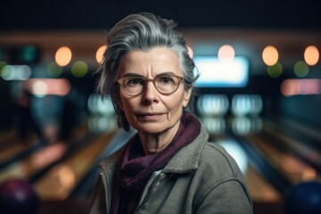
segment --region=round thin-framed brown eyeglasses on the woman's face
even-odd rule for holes
[[[177,91],[178,86],[182,82],[183,78],[172,75],[172,74],[160,74],[155,78],[143,78],[143,77],[125,77],[119,78],[117,82],[119,83],[121,89],[126,95],[141,95],[148,82],[152,82],[156,90],[161,93],[161,95],[170,95]]]

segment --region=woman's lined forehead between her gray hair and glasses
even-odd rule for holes
[[[120,76],[126,73],[144,76],[155,76],[162,72],[182,74],[178,54],[167,47],[130,51],[121,58],[119,69]]]

